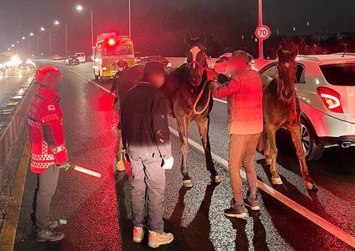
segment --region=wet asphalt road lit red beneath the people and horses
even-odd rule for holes
[[[44,62],[38,62],[43,64]],[[62,107],[70,161],[102,173],[102,178],[75,171],[62,172],[53,197],[52,216],[66,219],[60,226],[66,238],[60,242],[36,243],[31,233],[31,204],[36,177],[28,172],[15,250],[147,250],[131,242],[129,166],[127,173],[114,172],[117,116],[113,98],[87,79],[93,79],[90,63],[62,69]],[[63,66],[63,67],[62,67]],[[110,89],[111,83],[102,84]],[[226,104],[215,101],[211,113],[212,151],[228,158]],[[175,121],[170,126],[176,128]],[[195,125],[192,140],[200,143]],[[160,250],[351,250],[349,245],[318,227],[273,197],[260,192],[260,213],[249,212],[246,220],[224,217],[231,190],[226,167],[216,163],[224,182],[211,184],[202,152],[190,146],[188,165],[192,189],[181,186],[180,143],[172,134],[175,166],[166,172],[165,230],[175,234],[173,244]],[[263,155],[256,155],[258,179],[310,211],[355,235],[355,148],[333,148],[308,167],[318,191],[305,189],[297,158],[287,133],[278,135],[278,168],[283,185],[272,186]],[[246,182],[244,182],[246,191]],[[146,241],[145,241],[146,242]]]

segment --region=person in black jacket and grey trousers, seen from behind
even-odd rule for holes
[[[143,81],[126,94],[121,107],[122,141],[133,173],[133,242],[143,240],[147,204],[149,247],[174,239],[163,231],[165,169],[173,167],[165,97],[159,89],[164,82],[164,65],[148,62]]]

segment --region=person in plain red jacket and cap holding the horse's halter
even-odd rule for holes
[[[251,210],[258,211],[256,199],[256,171],[254,155],[256,145],[263,131],[263,87],[258,72],[249,65],[249,54],[237,50],[229,59],[228,67],[231,79],[225,84],[218,84],[214,80],[214,72],[207,69],[209,88],[213,96],[227,99],[229,111],[229,178],[233,199],[231,208],[224,211],[229,217],[244,218],[244,205]],[[248,196],[243,201],[241,193],[241,165],[246,170],[248,182]],[[243,205],[244,204],[244,205]]]

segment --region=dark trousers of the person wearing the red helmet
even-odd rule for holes
[[[35,215],[35,232],[40,233],[49,225],[50,202],[57,189],[59,177],[59,168],[55,165],[49,167],[38,174],[38,184],[35,189],[34,215]]]

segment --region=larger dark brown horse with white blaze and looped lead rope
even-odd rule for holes
[[[222,182],[222,177],[219,176],[214,168],[209,144],[209,113],[212,110],[213,99],[206,82],[205,69],[208,67],[205,52],[206,38],[204,35],[200,35],[199,38],[192,38],[186,34],[185,43],[187,45],[187,63],[167,74],[165,83],[160,90],[165,96],[168,115],[176,118],[177,121],[182,153],[182,185],[190,188],[193,183],[187,168],[187,152],[188,126],[192,121],[197,124],[201,136],[207,170],[211,174],[212,182]],[[137,65],[126,69],[121,74],[116,90],[120,104],[127,91],[141,81],[143,69],[143,65]],[[120,135],[121,130],[119,128],[119,138],[121,138]],[[123,165],[121,139],[118,140],[118,143],[116,167]]]

